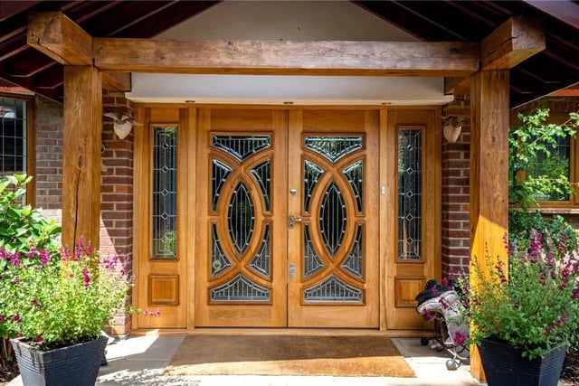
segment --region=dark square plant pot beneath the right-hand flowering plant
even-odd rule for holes
[[[489,386],[557,386],[566,345],[555,347],[542,358],[529,361],[509,344],[485,339],[479,345],[480,360]]]

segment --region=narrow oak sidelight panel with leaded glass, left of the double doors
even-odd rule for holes
[[[134,327],[186,328],[189,248],[185,226],[177,223],[186,223],[189,111],[137,111],[143,122],[143,128],[135,130],[137,307],[160,313],[138,314]]]

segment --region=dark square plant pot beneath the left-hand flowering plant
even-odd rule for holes
[[[21,339],[12,346],[24,386],[94,386],[107,338],[74,344],[51,351],[41,351]]]

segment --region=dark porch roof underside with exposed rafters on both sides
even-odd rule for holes
[[[150,38],[218,3],[0,1],[0,87],[20,86],[62,102],[62,64],[26,44],[28,13],[62,11],[93,37]],[[579,1],[352,3],[425,42],[480,42],[509,17],[540,17],[546,24],[546,50],[510,70],[510,106],[579,82]],[[448,83],[460,84],[460,81]],[[465,92],[464,85],[463,82],[462,90],[454,88],[455,94]]]

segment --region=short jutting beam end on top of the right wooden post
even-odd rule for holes
[[[545,28],[539,21],[511,17],[480,43],[482,70],[512,69],[545,47]]]

